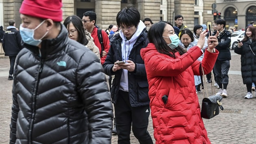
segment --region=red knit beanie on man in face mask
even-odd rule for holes
[[[62,0],[24,0],[20,13],[41,19],[62,21]]]

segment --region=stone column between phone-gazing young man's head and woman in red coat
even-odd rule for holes
[[[137,0],[137,8],[141,15],[141,20],[148,17],[153,23],[160,19],[161,0]]]

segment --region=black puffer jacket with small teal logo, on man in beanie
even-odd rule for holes
[[[10,143],[110,144],[113,108],[98,57],[59,36],[16,58]]]

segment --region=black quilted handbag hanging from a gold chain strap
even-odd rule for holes
[[[211,89],[212,95],[208,97],[207,85],[206,85],[206,75],[204,75],[204,69],[200,64],[200,68],[202,68],[202,72],[200,70],[201,81],[202,81],[202,91],[203,91],[203,101],[202,101],[202,108],[201,108],[201,117],[204,119],[210,119],[214,116],[219,114],[219,108],[223,110],[223,106],[221,104],[222,97],[221,95],[214,95],[215,88],[214,88],[214,77],[213,77],[213,70],[211,71]],[[205,87],[204,87],[205,86]],[[206,92],[206,97],[204,95],[204,91]]]

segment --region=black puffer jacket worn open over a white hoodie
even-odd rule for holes
[[[130,104],[133,107],[147,106],[149,105],[150,101],[148,97],[148,80],[145,64],[140,55],[141,48],[144,48],[148,45],[147,33],[145,31],[146,29],[144,29],[141,35],[137,38],[137,41],[133,45],[129,55],[129,60],[135,63],[135,71],[128,72],[129,97]],[[111,87],[111,97],[114,104],[118,97],[122,69],[113,72],[112,68],[115,61],[122,61],[121,41],[122,38],[119,34],[116,34],[113,38],[111,38],[111,47],[108,51],[105,63],[103,64],[104,72],[107,75],[115,75]]]

